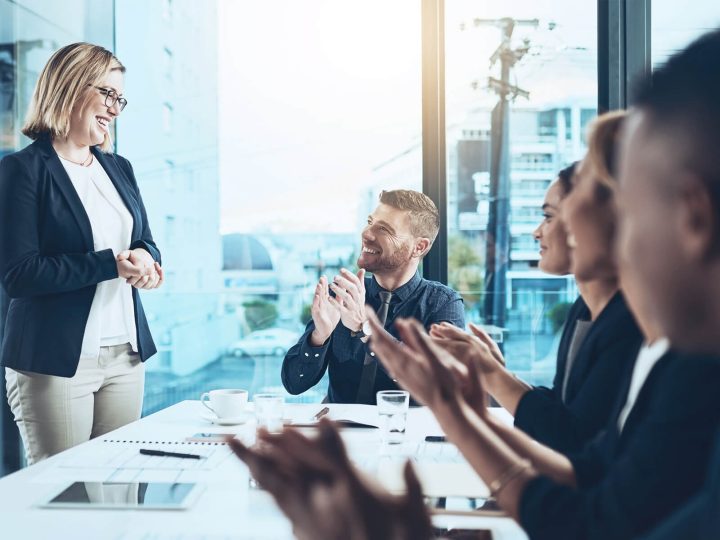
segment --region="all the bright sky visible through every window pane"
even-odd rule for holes
[[[665,1],[653,12],[663,29],[657,38],[667,40],[657,45],[661,50],[691,36],[668,29],[698,20]],[[361,196],[377,182],[373,166],[421,131],[420,1],[219,4],[223,232],[354,232]],[[516,84],[531,92],[530,102],[518,105],[594,102],[596,0],[445,5],[449,124],[473,106],[494,103],[471,83],[482,87],[491,74],[488,59],[500,33],[473,27],[475,17],[540,20],[537,29],[515,31],[518,44],[527,36],[532,45],[514,71]]]

